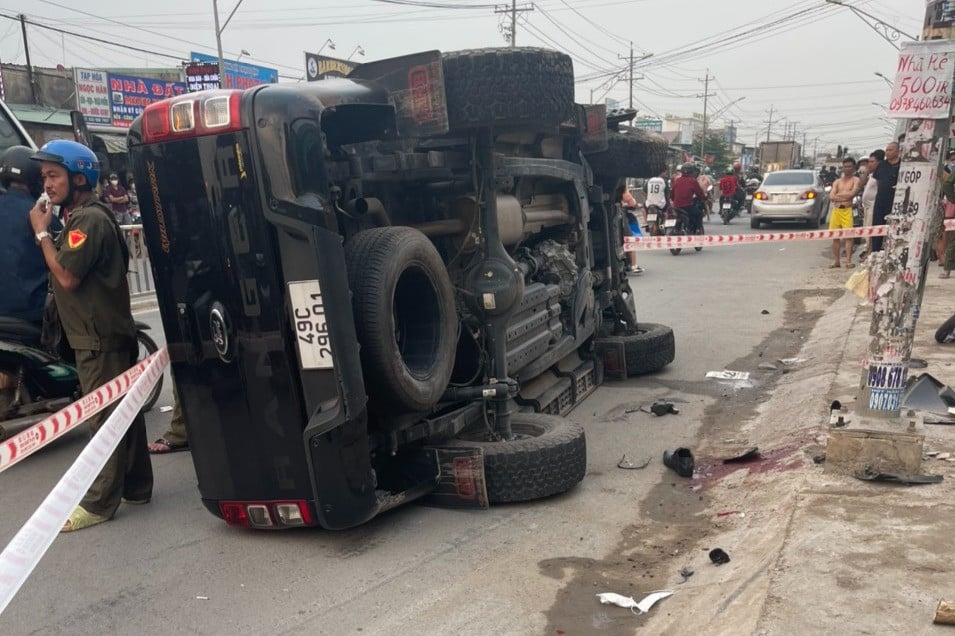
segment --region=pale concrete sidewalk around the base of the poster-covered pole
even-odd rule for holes
[[[940,280],[939,271],[930,265],[913,352],[928,368],[910,375],[955,384],[955,345],[934,340],[955,312],[955,279]],[[807,288],[831,299],[848,275],[816,271]],[[955,600],[946,550],[955,536],[955,463],[924,459],[922,473],[944,481],[906,487],[827,474],[813,461],[825,451],[832,400],[849,408],[849,428],[858,426],[851,411],[872,316],[848,292],[818,306],[824,299],[808,293],[802,300],[804,312],[822,314],[800,350],[803,361],[775,378],[756,415],[713,427],[700,441],[704,461],[690,488],[705,494],[706,510],[697,515],[704,525],[696,551],[681,556],[695,573],[684,583],[679,563],[671,563],[665,587],[676,594],[652,610],[641,633],[952,633],[932,618],[940,599]],[[917,432],[926,451],[955,457],[955,427],[920,425]],[[745,446],[758,446],[764,460],[705,460]],[[713,547],[732,561],[712,565]]]

